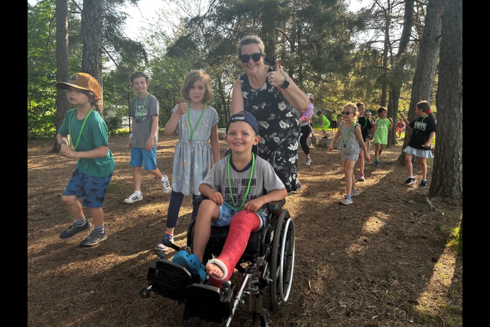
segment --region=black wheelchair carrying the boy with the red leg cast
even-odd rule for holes
[[[199,199],[202,201],[202,198]],[[223,288],[210,285],[208,277],[201,283],[200,277],[192,276],[184,267],[163,259],[150,264],[148,287],[140,290],[142,298],[151,292],[177,300],[179,303],[178,323],[190,326],[194,318],[223,323],[229,327],[236,309],[246,303],[252,313],[255,327],[267,327],[269,313],[263,308],[262,298],[269,290],[272,312],[279,312],[287,302],[292,283],[295,263],[295,225],[283,205],[286,200],[267,205],[267,224],[252,232],[240,260],[235,268],[243,278],[238,287],[230,281],[223,282]],[[187,229],[187,245],[183,248],[192,251],[195,220]],[[206,246],[203,263],[219,255],[228,236],[229,227],[211,227],[211,237]],[[168,247],[181,250],[177,245],[167,242]],[[245,265],[242,265],[246,263]],[[245,267],[243,267],[245,266]]]

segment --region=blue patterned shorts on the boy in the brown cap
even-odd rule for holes
[[[106,177],[94,177],[82,173],[78,168],[71,174],[63,195],[83,198],[82,204],[90,208],[101,208],[106,198],[107,188],[112,174]]]

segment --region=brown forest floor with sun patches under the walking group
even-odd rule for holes
[[[60,197],[76,162],[46,154],[51,141],[28,143],[29,326],[176,325],[176,301],[138,296],[156,259],[153,247],[165,228],[169,196],[144,174],[143,201],[122,202],[133,192],[127,141],[110,138],[118,166],[104,205],[108,240],[92,248],[78,245],[85,233],[68,241],[58,237],[71,221]],[[159,143],[158,167],[171,176],[176,138],[162,136]],[[223,155],[224,141],[220,147]],[[305,166],[300,149],[304,188],[285,206],[296,225],[293,289],[285,309],[271,315],[272,326],[462,325],[462,258],[447,246],[461,208],[434,203],[441,212],[431,211],[428,188],[403,185],[399,153],[400,146],[386,150],[380,168],[366,164],[360,195],[341,206],[340,154],[315,147],[311,166]],[[420,169],[414,171],[420,179]],[[431,173],[429,168],[429,185]],[[185,244],[191,210],[186,197],[178,245]],[[174,254],[167,252],[168,258]],[[237,310],[232,325],[252,325],[247,306]]]

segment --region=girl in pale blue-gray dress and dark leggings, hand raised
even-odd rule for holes
[[[164,251],[164,239],[174,243],[174,228],[179,218],[184,195],[192,194],[192,218],[198,215],[199,205],[194,199],[199,193],[199,185],[211,169],[213,162],[219,161],[218,114],[206,105],[213,98],[211,79],[202,71],[191,71],[184,78],[182,97],[178,100],[172,115],[165,125],[164,134],[170,136],[179,125],[179,141],[174,152],[172,192],[168,204],[165,235],[155,246]],[[211,147],[208,142],[211,140]],[[212,154],[212,157],[211,157]]]

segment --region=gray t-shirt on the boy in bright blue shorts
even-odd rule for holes
[[[144,104],[144,107],[143,107]],[[144,98],[140,99],[138,97],[131,100],[129,105],[129,115],[136,121],[134,125],[132,147],[133,148],[144,148],[148,136],[152,131],[153,115],[158,116],[158,111],[160,109],[160,104],[154,96],[148,94],[146,98],[146,103]],[[153,147],[157,147],[158,142],[158,128],[153,138]]]

